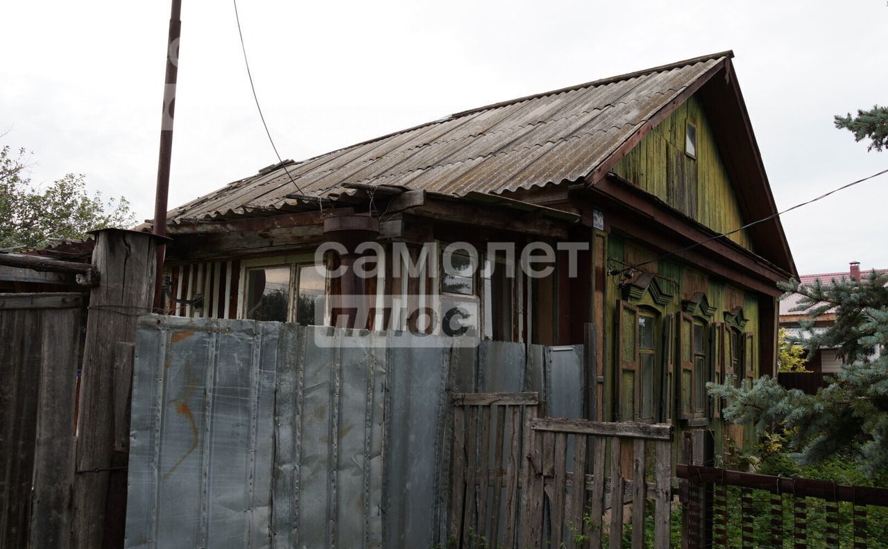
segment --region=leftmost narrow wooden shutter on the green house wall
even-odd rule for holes
[[[618,421],[638,419],[641,391],[638,372],[638,308],[624,301],[616,306],[616,399]]]

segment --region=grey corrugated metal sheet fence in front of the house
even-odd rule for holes
[[[447,539],[449,392],[582,403],[582,347],[391,337],[141,318],[126,546],[431,547]]]

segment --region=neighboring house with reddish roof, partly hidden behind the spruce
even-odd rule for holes
[[[888,269],[876,270],[883,273]],[[866,274],[866,272],[864,272]],[[829,284],[832,280],[841,280],[842,278],[851,278],[860,280],[860,262],[852,261],[850,268],[845,272],[824,272],[821,274],[803,275],[799,278],[799,282],[803,285],[811,285],[815,280],[820,280],[823,284]],[[801,311],[793,310],[797,307],[802,296],[799,294],[789,294],[780,302],[780,327],[786,328],[787,335],[804,336],[805,333],[799,326],[799,321],[805,319],[805,314]],[[814,321],[813,330],[821,332],[826,330],[830,325],[836,322],[835,310],[828,310]],[[836,349],[817,349],[813,355],[806,356],[807,363],[805,368],[814,373],[836,373],[842,369],[842,359],[836,356]]]

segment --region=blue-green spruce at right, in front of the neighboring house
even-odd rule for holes
[[[816,395],[782,388],[763,376],[740,388],[733,380],[724,385],[707,384],[710,395],[728,403],[725,420],[752,422],[757,430],[776,427],[786,433],[789,448],[803,464],[819,463],[830,456],[848,453],[861,468],[876,474],[888,467],[888,273],[871,271],[861,280],[842,278],[824,284],[800,285],[797,280],[781,285],[801,294],[796,311],[802,322],[798,340],[812,351],[837,349],[843,369]],[[813,331],[814,319],[830,311],[836,322]],[[884,351],[883,351],[884,352]],[[730,376],[727,376],[730,377]]]

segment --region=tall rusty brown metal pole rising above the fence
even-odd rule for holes
[[[170,37],[167,41],[167,68],[163,84],[163,114],[161,115],[161,147],[157,161],[157,191],[155,192],[154,233],[166,236],[167,197],[170,194],[170,158],[172,157],[172,122],[176,108],[176,81],[178,79],[178,38],[182,30],[180,14],[182,0],[172,0],[170,9]],[[163,255],[166,246],[157,243],[157,271],[155,276],[155,312],[163,303]]]

